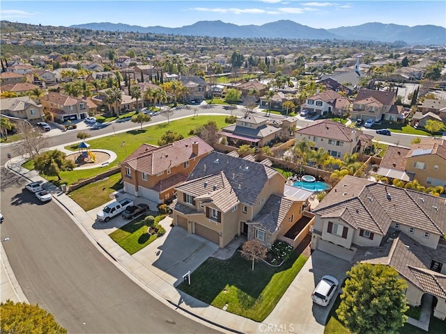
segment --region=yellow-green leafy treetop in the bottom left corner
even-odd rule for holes
[[[0,303],[0,333],[51,333],[65,334],[67,330],[57,324],[54,315],[40,308],[38,304]]]

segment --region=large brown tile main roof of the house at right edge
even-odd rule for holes
[[[341,217],[344,208],[350,216]],[[353,227],[381,235],[392,222],[440,235],[446,229],[443,198],[352,176],[344,177],[313,212],[322,217],[337,212]]]

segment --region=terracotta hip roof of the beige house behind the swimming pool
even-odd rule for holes
[[[346,127],[342,123],[333,122],[332,120],[316,120],[316,122],[313,122],[307,127],[302,127],[301,129],[295,130],[295,133],[298,134],[305,134],[307,136],[318,136],[322,138],[333,139],[336,141],[348,142],[352,141],[353,132],[356,132],[356,136],[354,138],[358,138],[363,134],[360,130],[351,129],[350,127]],[[373,136],[370,137],[373,138]]]

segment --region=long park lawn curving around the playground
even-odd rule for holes
[[[226,123],[224,122],[225,118],[226,116],[195,116],[191,118],[183,118],[181,120],[173,120],[170,123],[166,122],[158,125],[151,125],[149,127],[144,127],[142,131],[137,129],[124,132],[122,134],[110,135],[92,140],[86,139],[86,141],[90,144],[91,149],[103,148],[106,150],[112,150],[118,157],[106,167],[63,171],[60,174],[62,179],[60,181],[57,180],[57,177],[49,177],[47,175],[42,176],[56,185],[73,184],[79,182],[79,180],[85,180],[89,177],[98,175],[99,173],[116,168],[118,164],[125,159],[125,157],[128,157],[130,153],[139,148],[142,143],[157,145],[158,139],[165,132],[167,132],[167,130],[177,132],[178,134],[183,134],[183,136],[187,138],[190,136],[189,132],[191,129],[194,129],[199,125],[203,125],[209,120],[214,120],[217,123],[217,127],[221,129],[222,127],[226,126]],[[124,146],[122,146],[123,142],[125,142]],[[81,143],[81,141],[79,141],[79,143]],[[79,143],[67,146],[66,149],[77,152],[77,146]],[[23,166],[29,170],[33,169],[32,161],[26,162],[26,164]]]

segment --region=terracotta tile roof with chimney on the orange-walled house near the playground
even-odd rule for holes
[[[199,157],[214,150],[212,146],[208,145],[199,136],[192,136],[160,148],[153,148],[152,145],[143,144],[137,151],[130,154],[124,162],[134,170],[145,172],[148,175],[156,175],[197,157],[192,153],[192,143],[195,142],[198,143]]]

